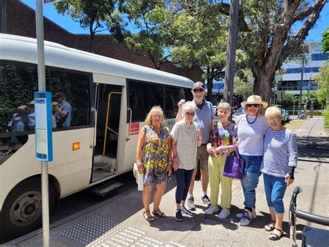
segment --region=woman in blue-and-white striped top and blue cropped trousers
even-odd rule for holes
[[[269,239],[282,237],[282,218],[285,208],[283,196],[287,186],[294,182],[294,169],[297,165],[297,138],[290,129],[282,126],[282,115],[276,107],[265,112],[269,128],[264,137],[264,159],[261,171],[264,175],[264,187],[267,205],[271,213],[271,223],[265,230],[272,231]]]

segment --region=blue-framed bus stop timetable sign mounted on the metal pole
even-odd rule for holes
[[[53,161],[53,120],[51,93],[35,92],[35,158]]]

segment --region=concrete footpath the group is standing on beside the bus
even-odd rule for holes
[[[196,211],[192,217],[184,217],[182,222],[175,221],[175,184],[171,183],[160,205],[168,217],[155,218],[149,223],[142,216],[141,192],[137,191],[136,186],[135,189],[51,224],[51,246],[289,246],[288,206],[295,186],[303,189],[298,196],[298,209],[329,216],[329,159],[326,157],[329,145],[322,146],[322,143],[329,143],[329,137],[323,130],[323,118],[307,120],[296,134],[298,146],[303,152],[298,161],[295,182],[287,188],[287,213],[283,225],[285,235],[279,241],[270,241],[269,232],[264,230],[270,218],[263,179],[260,177],[256,191],[258,218],[246,227],[240,226],[239,219],[235,217],[244,202],[242,188],[237,180],[233,182],[231,215],[225,220],[204,214],[205,206],[200,201],[201,183],[196,182]],[[313,225],[302,220],[298,220],[298,224],[299,228]],[[42,246],[42,230],[26,234],[4,246]]]

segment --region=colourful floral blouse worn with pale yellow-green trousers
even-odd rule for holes
[[[230,123],[230,125],[223,127],[221,122],[216,122],[214,129],[210,133],[209,142],[213,145],[214,148],[218,148],[222,145],[235,145],[238,143],[237,141],[237,125]],[[212,157],[221,157],[221,154],[211,154]],[[231,153],[234,155],[234,152]]]

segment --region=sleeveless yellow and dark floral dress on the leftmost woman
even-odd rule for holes
[[[169,129],[161,125],[160,134],[153,126],[145,125],[146,142],[142,162],[144,164],[144,184],[162,184],[170,182],[172,177],[167,173]]]

